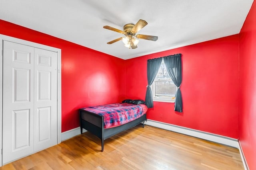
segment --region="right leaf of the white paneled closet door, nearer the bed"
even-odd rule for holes
[[[57,145],[57,53],[35,48],[34,151]]]

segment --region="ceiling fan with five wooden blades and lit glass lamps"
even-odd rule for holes
[[[143,35],[143,34],[137,34],[135,35],[140,29],[145,27],[148,23],[144,20],[139,20],[135,25],[133,23],[128,23],[124,25],[124,31],[121,31],[120,29],[116,29],[113,27],[110,27],[108,25],[104,26],[103,28],[109,29],[111,31],[116,31],[118,33],[122,33],[125,35],[125,37],[120,37],[117,39],[114,39],[113,41],[109,41],[107,44],[112,44],[115,43],[116,41],[120,41],[122,39],[124,46],[128,47],[129,49],[136,49],[137,45],[139,43],[139,39],[146,39],[146,40],[151,40],[151,41],[156,41],[158,39],[157,36],[152,36],[152,35]],[[136,38],[134,38],[136,37]]]

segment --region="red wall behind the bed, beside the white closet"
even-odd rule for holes
[[[0,34],[62,50],[62,132],[80,126],[78,108],[124,99],[124,60],[3,20]]]

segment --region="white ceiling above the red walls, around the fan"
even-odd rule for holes
[[[253,0],[0,0],[0,19],[130,59],[183,47],[240,32]],[[138,48],[128,49],[123,35],[126,23],[146,20],[139,34],[158,36],[140,39]]]

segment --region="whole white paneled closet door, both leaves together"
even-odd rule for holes
[[[12,162],[57,145],[56,52],[4,41],[3,154]]]

